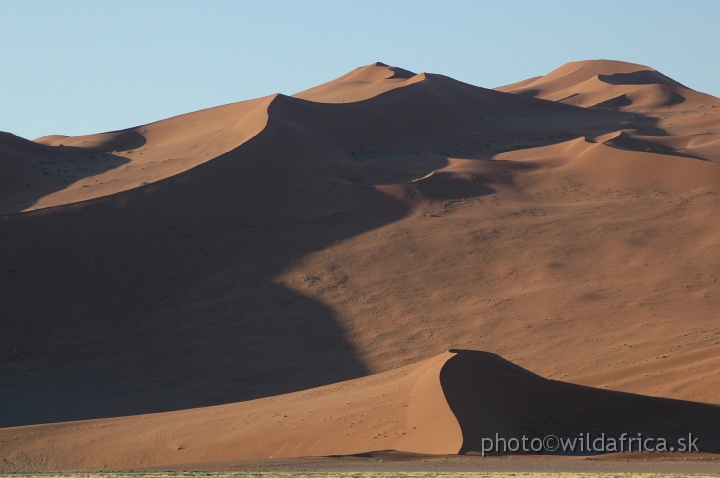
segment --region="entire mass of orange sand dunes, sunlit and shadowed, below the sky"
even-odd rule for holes
[[[469,452],[493,427],[680,430],[637,407],[707,434],[714,406],[541,377],[720,403],[720,100],[606,61],[500,90],[377,63],[124,131],[0,136],[0,426],[31,425],[0,432],[13,463],[45,466],[52,437],[46,469]],[[499,388],[443,382],[441,400],[425,380],[440,368]],[[373,408],[385,387],[397,398]],[[327,421],[286,413],[293,430],[273,404]],[[251,409],[250,428],[232,418]],[[225,431],[194,437],[218,411]],[[337,435],[366,413],[382,426]],[[117,454],[99,453],[105,424],[128,427],[112,428]],[[66,453],[74,440],[98,454]]]

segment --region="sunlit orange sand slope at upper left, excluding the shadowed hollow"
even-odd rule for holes
[[[38,138],[36,143],[49,148],[42,157],[31,160],[45,160],[44,164],[50,166],[50,178],[57,170],[67,184],[47,185],[55,190],[23,211],[110,196],[215,159],[265,128],[267,108],[276,96],[209,108],[123,131]],[[42,185],[48,177],[40,171],[35,169],[34,177],[27,177],[25,182]]]

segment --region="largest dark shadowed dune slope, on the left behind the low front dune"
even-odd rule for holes
[[[364,375],[331,312],[271,279],[405,214],[342,181],[336,154],[273,122],[242,151],[155,185],[0,218],[0,422],[189,408]]]

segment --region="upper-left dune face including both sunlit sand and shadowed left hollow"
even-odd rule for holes
[[[177,176],[257,136],[277,96],[86,136],[29,141],[0,133],[0,215],[76,204]]]

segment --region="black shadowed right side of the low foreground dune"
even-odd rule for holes
[[[463,432],[461,453],[482,451],[483,438],[494,438],[496,433],[504,438],[528,439],[641,434],[645,438],[663,438],[668,446],[677,446],[680,438],[687,444],[688,434],[692,434],[702,451],[720,451],[717,405],[548,380],[494,354],[452,352],[456,355],[446,362],[440,381]],[[636,443],[635,450],[638,448]],[[579,447],[559,449],[557,453],[593,454]]]

